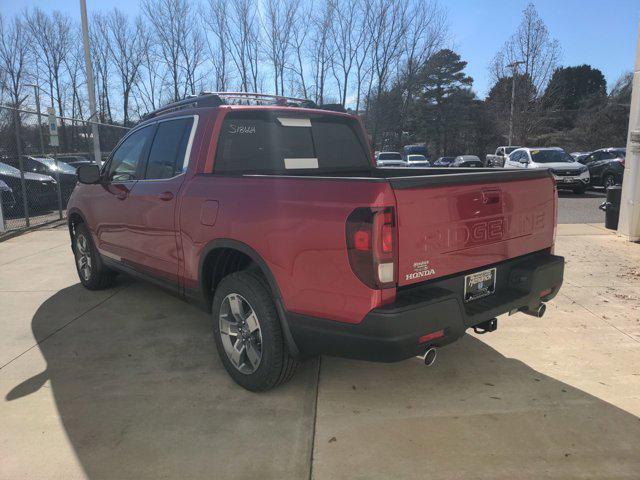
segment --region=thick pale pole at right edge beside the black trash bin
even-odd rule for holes
[[[638,22],[638,45],[633,72],[618,235],[630,242],[640,241],[640,22]]]

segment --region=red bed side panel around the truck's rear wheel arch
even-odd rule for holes
[[[206,200],[219,205],[213,226],[201,221]],[[346,219],[356,207],[393,204],[385,181],[197,175],[186,185],[180,215],[185,286],[198,287],[209,242],[233,239],[262,257],[287,310],[360,322],[395,289],[371,290],[354,275]]]

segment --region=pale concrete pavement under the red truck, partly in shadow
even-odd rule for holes
[[[0,478],[638,478],[640,245],[561,225],[556,251],[543,319],[256,395],[207,315],[124,277],[81,288],[65,228],[2,242]]]

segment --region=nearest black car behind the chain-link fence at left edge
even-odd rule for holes
[[[4,211],[9,214],[21,215],[23,206],[20,170],[6,163],[0,163],[0,180],[11,190],[11,195],[5,193],[5,191],[2,192],[2,207],[5,209]],[[27,190],[29,211],[51,210],[57,206],[58,191],[56,181],[51,176],[24,172],[24,182]],[[13,196],[14,201],[11,201],[11,196]]]

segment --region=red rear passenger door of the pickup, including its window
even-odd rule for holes
[[[133,265],[176,285],[178,245],[176,206],[185,179],[197,116],[169,118],[157,123],[141,178],[131,189],[128,215]]]

